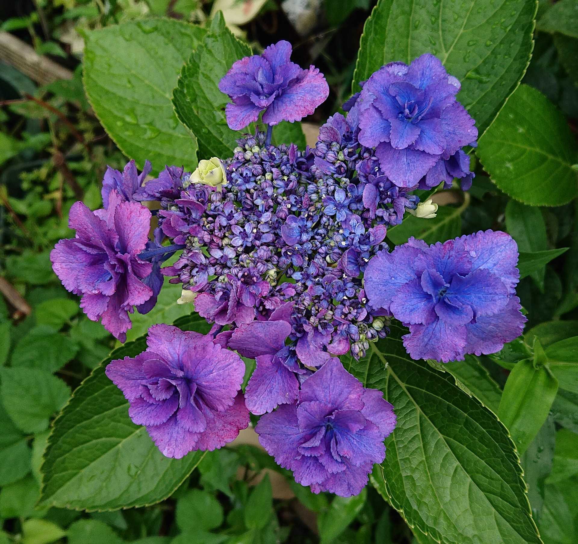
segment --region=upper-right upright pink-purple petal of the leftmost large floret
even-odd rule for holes
[[[138,202],[121,202],[116,206],[114,226],[121,252],[136,255],[144,249],[149,241],[151,217],[150,210]]]

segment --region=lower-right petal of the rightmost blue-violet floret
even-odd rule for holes
[[[520,299],[510,297],[506,307],[492,316],[483,316],[466,325],[466,353],[488,355],[501,350],[503,345],[518,338],[528,321],[520,312]]]

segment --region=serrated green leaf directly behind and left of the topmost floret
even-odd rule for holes
[[[217,13],[209,34],[183,66],[173,104],[179,119],[197,135],[201,159],[230,157],[236,147],[240,133],[227,125],[229,99],[218,90],[218,82],[236,60],[250,54],[251,48],[235,38]]]

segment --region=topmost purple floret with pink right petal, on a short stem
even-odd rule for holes
[[[270,45],[262,55],[244,57],[231,66],[218,84],[229,95],[227,124],[233,130],[257,121],[301,121],[329,95],[329,86],[314,66],[302,69],[290,61],[291,44],[285,40]]]

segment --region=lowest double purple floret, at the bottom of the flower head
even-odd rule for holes
[[[338,359],[303,382],[298,399],[259,420],[263,447],[313,493],[357,495],[373,464],[386,456],[384,439],[395,414],[381,391],[366,389]]]

